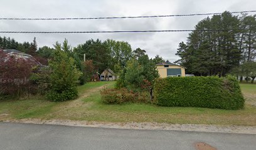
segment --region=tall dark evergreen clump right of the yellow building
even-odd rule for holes
[[[206,30],[206,31],[203,31]],[[254,79],[256,57],[256,15],[234,16],[230,12],[206,17],[196,24],[186,42],[180,42],[176,63],[197,76],[225,76],[235,73]],[[245,73],[243,65],[254,66]],[[254,75],[253,75],[254,73]]]

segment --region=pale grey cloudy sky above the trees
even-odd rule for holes
[[[0,0],[0,17],[111,17],[191,14],[223,11],[249,11],[256,9],[255,0]],[[193,29],[206,16],[165,17],[141,19],[99,19],[66,21],[14,21],[0,20],[0,31],[129,31]],[[38,46],[52,47],[65,38],[72,47],[88,39],[114,39],[127,41],[132,49],[141,47],[150,57],[159,54],[176,61],[178,44],[185,41],[188,32],[151,33],[86,33],[86,34],[0,34],[16,41],[32,41]]]

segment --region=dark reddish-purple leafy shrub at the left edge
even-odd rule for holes
[[[34,60],[16,58],[0,50],[0,94],[21,96],[31,92],[29,77]]]

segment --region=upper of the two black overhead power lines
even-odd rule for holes
[[[233,11],[232,14],[247,13],[256,11]],[[85,19],[134,19],[134,18],[148,18],[148,17],[181,17],[181,16],[206,16],[217,15],[222,12],[203,13],[203,14],[170,14],[170,15],[158,15],[158,16],[124,16],[124,17],[63,17],[63,18],[18,18],[18,17],[0,17],[0,20],[85,20]]]

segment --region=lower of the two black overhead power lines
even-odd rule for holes
[[[255,30],[255,29],[250,29],[250,30]],[[192,31],[248,31],[248,29],[183,29],[183,30],[145,30],[145,31],[0,31],[0,33],[68,34],[68,33],[118,33],[118,32],[192,32]]]

